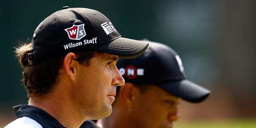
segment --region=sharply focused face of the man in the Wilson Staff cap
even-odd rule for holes
[[[81,114],[90,119],[109,116],[116,95],[116,86],[124,84],[124,78],[116,67],[118,56],[106,54],[90,60],[88,67],[78,64],[74,99]]]

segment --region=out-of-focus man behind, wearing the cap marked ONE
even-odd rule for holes
[[[201,102],[210,90],[185,78],[180,57],[172,48],[150,42],[144,54],[117,62],[126,83],[118,87],[113,111],[98,120],[100,128],[172,128],[181,99]]]

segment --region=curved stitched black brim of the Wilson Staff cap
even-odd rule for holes
[[[108,54],[118,55],[119,58],[135,58],[143,54],[148,48],[148,42],[117,38],[112,42],[94,47],[94,49]]]

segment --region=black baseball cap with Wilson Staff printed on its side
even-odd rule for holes
[[[147,42],[123,38],[102,13],[88,8],[69,8],[54,12],[36,28],[32,62],[40,63],[68,52],[99,50],[119,58],[140,56]],[[31,59],[30,58],[30,59]]]

